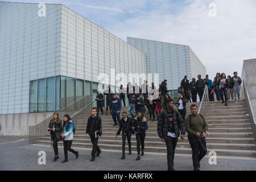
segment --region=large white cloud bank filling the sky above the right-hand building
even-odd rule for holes
[[[216,3],[217,16],[209,16],[209,4]],[[207,68],[209,77],[217,72],[241,75],[245,59],[256,57],[256,2],[254,0],[195,0],[181,3],[175,14],[165,13],[172,4],[159,5],[107,29],[126,36],[190,46]]]

